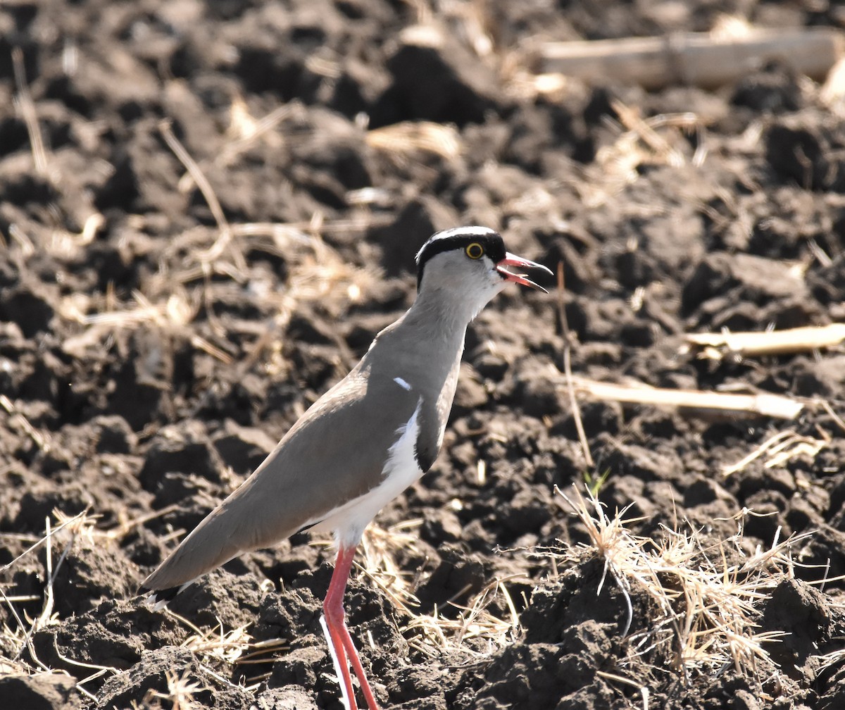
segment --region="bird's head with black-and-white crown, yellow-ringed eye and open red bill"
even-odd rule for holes
[[[546,291],[525,274],[508,270],[509,266],[552,273],[542,264],[510,254],[499,232],[492,229],[447,229],[437,232],[417,253],[417,292],[450,293],[476,314],[508,281]]]

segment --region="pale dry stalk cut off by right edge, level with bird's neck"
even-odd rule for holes
[[[758,333],[690,333],[686,341],[704,348],[702,357],[721,359],[726,354],[746,357],[782,355],[834,347],[845,341],[845,323],[766,330]]]

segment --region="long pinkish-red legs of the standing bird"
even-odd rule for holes
[[[352,689],[352,676],[349,674],[349,663],[352,664],[352,669],[361,684],[361,691],[364,694],[364,700],[367,701],[367,707],[369,710],[379,710],[379,705],[373,697],[373,691],[370,690],[367,676],[364,674],[361,659],[358,658],[355,644],[352,642],[352,636],[349,635],[349,630],[346,628],[346,613],[343,610],[343,594],[346,592],[346,580],[349,579],[349,571],[352,569],[352,558],[354,556],[354,546],[341,547],[338,550],[335,571],[332,572],[331,582],[329,583],[329,592],[326,593],[323,601],[323,612],[326,625],[329,627],[332,646],[335,647],[335,653],[337,653],[337,662],[341,667],[341,683],[346,688],[349,702],[352,703],[350,710],[357,710],[357,706],[355,704],[355,692]]]

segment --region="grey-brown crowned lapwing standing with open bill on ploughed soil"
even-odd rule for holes
[[[314,402],[263,463],[142,583],[161,608],[239,554],[296,532],[332,532],[326,642],[343,702],[357,710],[349,665],[369,710],[378,703],[346,628],[343,597],[363,530],[432,467],[455,397],[466,328],[509,282],[546,289],[508,267],[551,271],[506,251],[499,232],[455,227],[419,249],[417,296],[346,377]]]

